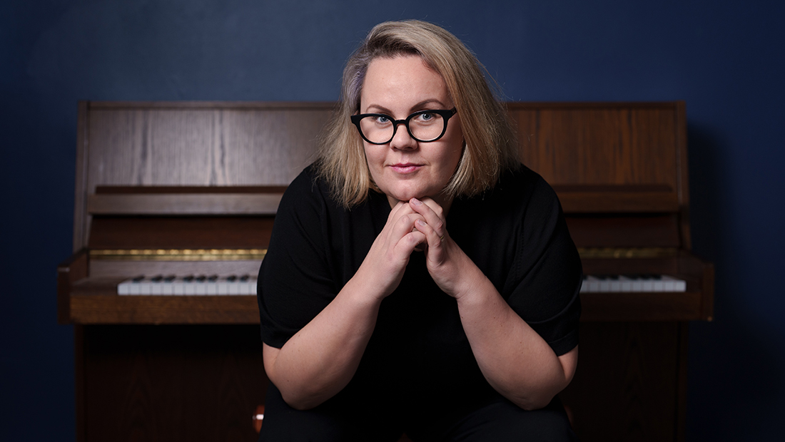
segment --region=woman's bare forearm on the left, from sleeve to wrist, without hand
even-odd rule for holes
[[[265,370],[293,408],[309,409],[352,379],[374,331],[380,300],[352,280],[281,349],[265,346]]]

